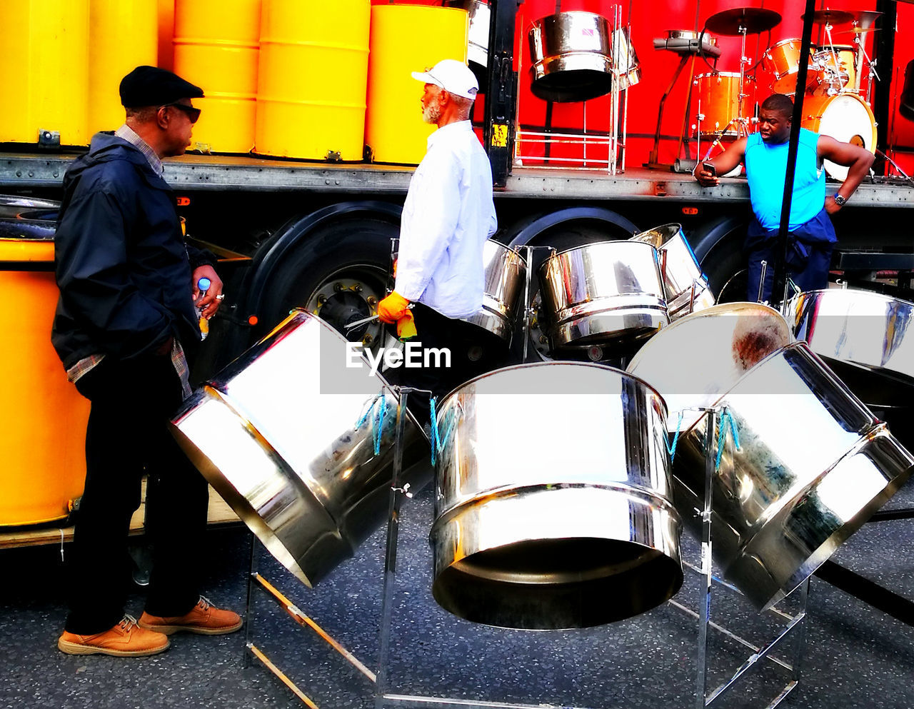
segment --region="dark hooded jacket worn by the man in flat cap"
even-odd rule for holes
[[[185,245],[175,196],[143,153],[97,133],[63,186],[51,342],[64,367],[88,355],[150,354],[173,335],[185,347],[199,342],[191,270],[215,258]]]

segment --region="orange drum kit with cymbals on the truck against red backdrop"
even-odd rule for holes
[[[802,127],[876,151],[876,119],[869,103],[878,80],[876,61],[866,54],[866,37],[881,13],[870,10],[816,10],[813,23],[822,26],[824,44],[810,48],[803,90]],[[737,7],[707,19],[706,30],[717,35],[741,37],[739,72],[712,71],[694,80],[697,94],[693,126],[701,155],[701,141],[710,140],[707,157],[720,143],[732,142],[752,132],[756,105],[768,93],[793,95],[801,63],[802,41],[782,39],[766,48],[759,61],[746,56],[746,37],[770,31],[781,16],[759,7]],[[835,35],[853,35],[853,43],[835,44]],[[866,77],[866,90],[863,79]],[[844,180],[847,168],[826,162],[825,170]]]

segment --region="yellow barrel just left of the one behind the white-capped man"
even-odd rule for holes
[[[263,0],[255,152],[361,160],[369,0]]]

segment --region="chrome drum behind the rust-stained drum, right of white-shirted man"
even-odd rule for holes
[[[560,251],[538,275],[553,349],[640,340],[670,322],[651,244],[600,241]]]

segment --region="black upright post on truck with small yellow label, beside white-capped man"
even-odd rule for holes
[[[492,0],[489,14],[489,86],[485,91],[485,152],[492,181],[504,187],[511,175],[515,141],[517,74],[514,70],[517,0]]]

